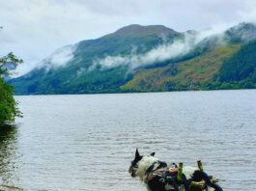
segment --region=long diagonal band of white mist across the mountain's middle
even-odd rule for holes
[[[186,32],[185,38],[176,40],[171,43],[159,44],[156,48],[150,50],[144,54],[136,54],[134,49],[128,56],[110,56],[107,55],[103,59],[96,59],[93,62],[93,66],[89,68],[92,70],[97,66],[104,68],[115,68],[119,66],[127,65],[129,69],[141,68],[150,66],[156,63],[162,63],[178,56],[183,56],[191,51],[196,44],[203,41],[206,38],[215,37],[218,42],[221,43],[223,32],[227,27],[218,27],[213,29],[203,30],[202,32]]]

